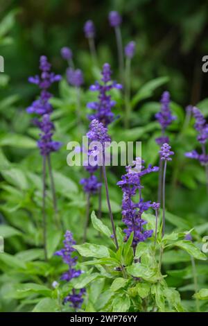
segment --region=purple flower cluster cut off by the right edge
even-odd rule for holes
[[[191,110],[192,109],[192,110]],[[198,160],[203,166],[208,164],[208,155],[206,153],[205,144],[208,139],[208,123],[202,112],[196,107],[190,107],[191,113],[195,118],[194,128],[198,132],[197,140],[202,146],[202,153],[199,154],[196,150],[186,153],[185,155],[194,160]]]

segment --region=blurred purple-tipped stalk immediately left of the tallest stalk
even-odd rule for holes
[[[89,51],[92,57],[92,62],[94,62],[94,65],[98,65],[98,58],[97,58],[97,53],[96,53],[96,46],[94,42],[94,37],[96,34],[94,22],[92,20],[87,20],[84,26],[84,32],[85,32],[85,37],[88,40],[89,43]]]

